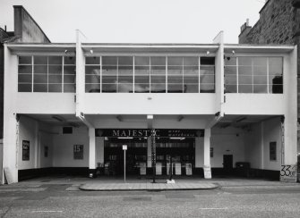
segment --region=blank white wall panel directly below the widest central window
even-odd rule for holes
[[[214,114],[216,94],[85,93],[85,114]]]

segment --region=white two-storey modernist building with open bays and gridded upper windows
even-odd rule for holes
[[[124,144],[138,174],[151,166],[150,129],[162,174],[170,155],[182,174],[210,165],[212,177],[239,162],[278,177],[296,164],[295,46],[227,45],[220,34],[210,45],[8,43],[4,58],[15,182],[107,163],[117,173]]]

